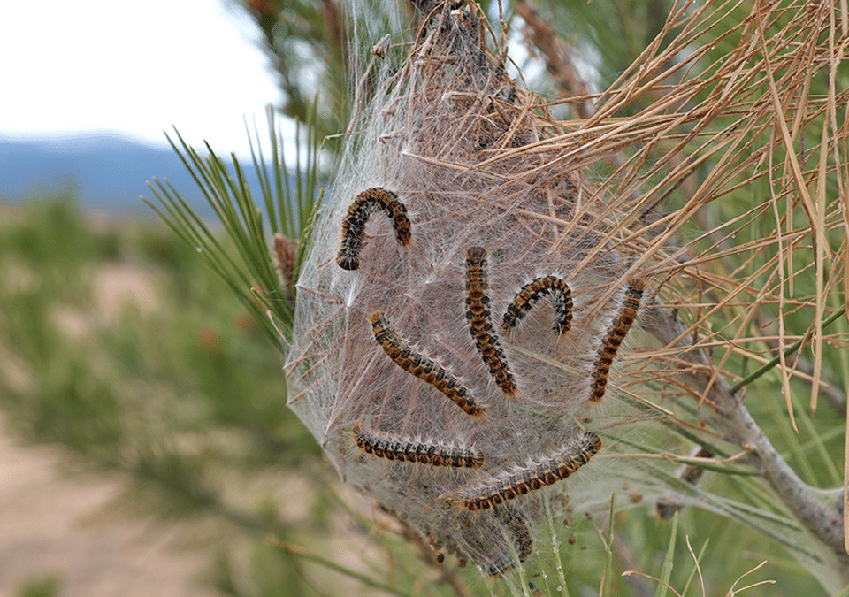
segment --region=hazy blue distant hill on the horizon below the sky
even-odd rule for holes
[[[205,154],[202,154],[205,155]],[[248,164],[242,164],[244,159]],[[249,156],[240,159],[249,181],[256,179]],[[203,217],[212,211],[180,158],[118,136],[73,137],[10,142],[0,140],[0,201],[25,201],[33,195],[75,188],[80,203],[115,215],[152,215],[139,195],[156,196],[145,184],[168,179]],[[259,187],[251,192],[259,199]]]

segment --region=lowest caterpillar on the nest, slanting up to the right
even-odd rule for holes
[[[584,432],[578,440],[577,453],[573,454],[570,448],[563,448],[557,455],[539,464],[503,474],[487,485],[467,489],[461,494],[463,507],[473,512],[495,508],[534,489],[552,485],[580,469],[600,449],[600,437],[593,432]]]

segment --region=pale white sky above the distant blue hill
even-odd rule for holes
[[[262,34],[228,0],[39,0],[0,10],[0,139],[120,134],[247,152],[279,103]],[[260,129],[263,130],[262,128]]]

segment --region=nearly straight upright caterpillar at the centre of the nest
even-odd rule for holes
[[[486,291],[486,249],[471,247],[466,254],[466,319],[484,364],[504,394],[516,394],[516,381],[509,371],[498,336],[489,322],[489,296]]]

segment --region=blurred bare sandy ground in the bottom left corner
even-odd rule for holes
[[[0,425],[0,597],[54,578],[58,594],[200,597],[209,555],[178,547],[180,530],[121,517],[118,478],[75,472],[62,448],[22,446]]]

